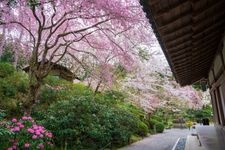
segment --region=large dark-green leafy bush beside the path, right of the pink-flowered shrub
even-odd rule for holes
[[[138,130],[138,121],[130,112],[83,96],[51,105],[41,122],[53,131],[58,146],[64,147],[67,143],[71,148],[100,149],[127,143]],[[145,128],[143,126],[140,128]]]

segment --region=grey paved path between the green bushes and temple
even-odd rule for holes
[[[165,130],[162,134],[151,135],[120,150],[171,150],[178,138],[186,137],[193,132],[193,129]]]

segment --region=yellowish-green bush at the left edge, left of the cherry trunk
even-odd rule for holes
[[[28,92],[28,76],[8,63],[0,63],[0,74],[0,109],[7,111],[7,117],[17,116]]]

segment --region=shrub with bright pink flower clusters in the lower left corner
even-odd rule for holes
[[[51,149],[53,146],[52,133],[38,125],[30,116],[13,118],[6,127],[14,135],[9,139],[10,147],[7,150]]]

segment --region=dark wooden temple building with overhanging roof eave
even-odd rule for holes
[[[225,150],[225,0],[140,3],[176,81],[181,86],[204,82],[210,88],[214,123],[219,130],[215,132],[219,134],[209,134],[215,137],[209,137],[211,147],[210,142],[205,147]]]

